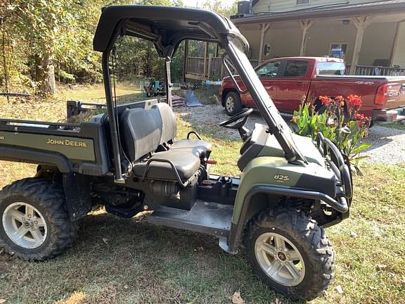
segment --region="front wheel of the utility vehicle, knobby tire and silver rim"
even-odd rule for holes
[[[248,223],[244,242],[253,272],[278,293],[311,300],[330,284],[335,251],[323,229],[301,213],[260,213]]]

